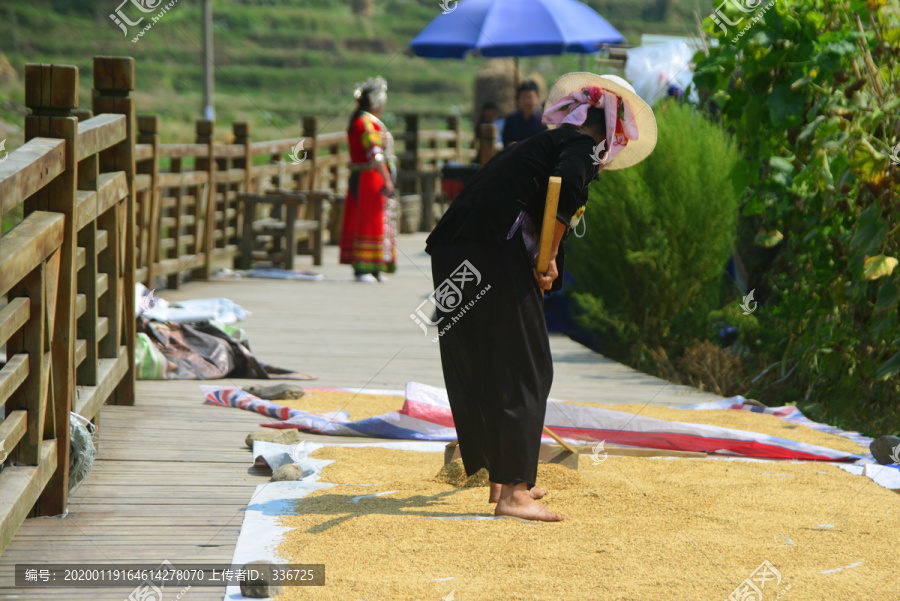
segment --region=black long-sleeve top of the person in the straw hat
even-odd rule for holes
[[[562,178],[556,218],[569,226],[572,217],[587,204],[588,187],[597,176],[592,154],[594,139],[573,129],[542,132],[505,149],[478,172],[428,236],[425,250],[455,240],[499,242],[522,209],[536,231],[544,222],[544,203],[550,176]],[[568,235],[568,230],[567,230]],[[560,244],[557,269],[563,272],[565,254]],[[553,289],[562,287],[562,277]]]

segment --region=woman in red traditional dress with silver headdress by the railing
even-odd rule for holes
[[[378,118],[387,82],[367,79],[356,89],[350,117],[350,186],[344,202],[341,263],[352,265],[358,282],[383,282],[396,270],[394,140]]]

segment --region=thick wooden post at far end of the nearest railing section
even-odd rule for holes
[[[113,336],[118,322],[123,322],[124,340],[115,335],[116,344],[120,340],[127,347],[128,371],[122,377],[115,393],[110,397],[117,405],[134,405],[134,340],[136,320],[134,319],[134,142],[137,135],[136,108],[130,98],[134,90],[134,59],[130,57],[94,57],[94,113],[116,113],[125,115],[125,139],[100,153],[100,171],[124,171],[128,180],[129,196],[125,206],[125,256],[123,257],[123,298],[122,308],[117,310],[115,319],[110,319],[109,333]],[[109,241],[113,243],[112,239]],[[107,294],[114,293],[113,282],[109,282]]]

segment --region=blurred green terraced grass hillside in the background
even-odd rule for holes
[[[354,84],[383,74],[390,83],[384,115],[388,127],[405,112],[432,115],[439,127],[455,112],[471,119],[471,93],[482,61],[426,60],[406,53],[410,39],[439,14],[437,1],[376,0],[375,16],[362,19],[340,0],[216,0],[214,2],[217,138],[225,124],[251,123],[254,139],[298,135],[303,115],[315,114],[324,131],[340,131]],[[670,18],[647,21],[656,0],[591,0],[631,43],[640,34],[693,30],[691,0],[672,5]],[[190,142],[201,114],[201,3],[179,0],[138,40],[124,37],[109,14],[116,0],[12,0],[0,8],[0,52],[20,76],[26,62],[73,64],[81,70],[81,104],[90,105],[92,57],[136,59],[139,111],[163,117],[164,142]],[[125,14],[136,18],[130,4]],[[131,28],[136,32],[137,27]],[[580,68],[577,55],[524,59],[526,73],[545,80]],[[0,83],[0,119],[20,125],[22,82]],[[440,118],[439,118],[440,116]],[[3,135],[3,132],[0,132]],[[7,148],[22,143],[9,134]]]

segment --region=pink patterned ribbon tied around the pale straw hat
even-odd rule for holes
[[[606,110],[607,99],[614,99],[615,107]],[[612,103],[610,103],[612,104]],[[587,119],[587,111],[590,107],[604,109],[606,114],[606,144],[605,156],[601,159],[601,165],[608,165],[617,154],[628,145],[628,140],[638,139],[637,124],[634,121],[634,112],[628,101],[616,96],[608,90],[598,86],[582,88],[572,92],[553,104],[544,111],[541,121],[547,125],[583,125]],[[619,107],[623,107],[622,117],[619,117]]]

